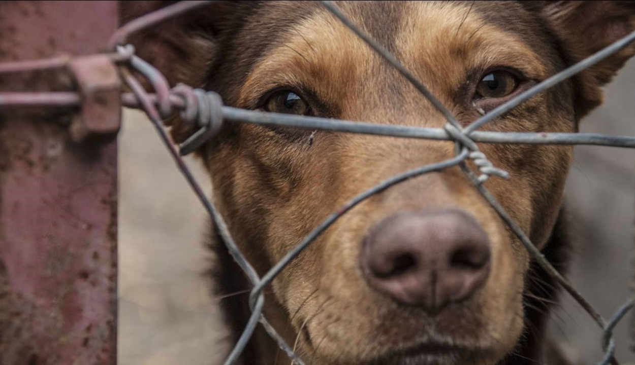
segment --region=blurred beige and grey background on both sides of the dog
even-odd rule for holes
[[[635,62],[606,88],[605,104],[582,123],[582,132],[635,136]],[[206,214],[140,112],[126,110],[119,135],[119,364],[222,364],[227,335],[208,279],[203,246]],[[577,146],[566,195],[573,221],[573,285],[605,317],[629,295],[635,227],[635,151]],[[189,158],[209,191],[199,163]],[[551,332],[576,359],[596,364],[602,331],[563,293]],[[629,348],[631,316],[617,326],[617,354]]]

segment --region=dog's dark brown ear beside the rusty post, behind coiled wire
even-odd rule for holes
[[[178,1],[120,1],[121,24]],[[131,35],[128,43],[135,46],[136,54],[156,67],[170,86],[184,83],[199,87],[208,73],[217,50],[232,29],[239,27],[258,6],[258,1],[215,1],[169,20],[157,23]],[[142,80],[145,87],[148,82]],[[194,132],[194,126],[173,117],[165,121],[171,126],[176,143],[182,143]]]

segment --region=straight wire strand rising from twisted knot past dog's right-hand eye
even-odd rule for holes
[[[478,118],[477,120],[472,122],[472,124],[465,127],[465,132],[467,134],[471,134],[471,132],[476,131],[476,129],[483,127],[483,125],[485,125],[488,122],[491,122],[491,120],[494,120],[495,118],[498,118],[501,115],[509,112],[509,110],[516,108],[516,106],[520,105],[521,103],[524,103],[525,101],[535,96],[536,94],[542,93],[542,91],[545,91],[549,89],[550,87],[555,86],[556,84],[559,84],[560,82],[563,82],[564,80],[572,77],[573,75],[586,70],[587,68],[595,65],[599,61],[604,60],[608,56],[611,56],[612,54],[617,53],[618,51],[624,49],[625,47],[627,47],[629,44],[631,44],[634,41],[635,41],[635,32],[632,32],[631,34],[626,35],[619,41],[613,42],[610,46],[592,54],[592,56],[589,56],[585,58],[584,60],[579,61],[575,65],[565,68],[565,70],[562,70],[561,72],[558,72],[558,74],[555,74],[549,77],[548,79],[545,79],[544,81],[540,82],[536,86],[531,87],[531,89],[525,91],[519,96],[516,96],[516,98],[513,98],[497,106],[496,108],[491,110],[491,112],[487,113],[481,118]]]

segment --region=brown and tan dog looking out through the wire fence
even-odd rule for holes
[[[169,2],[123,2],[124,21]],[[634,30],[632,1],[340,1],[457,120],[469,124]],[[217,2],[135,35],[171,84],[225,105],[377,124],[443,127],[415,87],[318,2]],[[483,129],[576,132],[629,46]],[[192,127],[170,122],[175,141]],[[505,181],[484,184],[566,272],[570,146],[481,144]],[[453,157],[453,143],[225,122],[197,154],[229,230],[260,275],[345,202]],[[471,169],[475,167],[471,165]],[[250,288],[214,229],[215,290]],[[309,364],[566,364],[545,333],[557,283],[459,167],[353,208],[274,279],[264,313]],[[251,311],[224,300],[231,342]],[[257,330],[245,365],[289,364]]]

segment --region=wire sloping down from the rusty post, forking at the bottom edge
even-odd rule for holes
[[[124,51],[124,50],[122,49],[121,51]],[[131,67],[135,67],[135,66],[138,67],[139,65],[144,65],[144,63],[131,63]],[[140,72],[142,75],[146,75],[144,72],[150,72],[150,74],[152,75],[152,71],[151,70],[149,71],[148,67],[151,67],[151,66],[145,64],[145,67],[135,68],[135,69],[138,72]],[[192,175],[192,172],[190,172],[189,168],[187,167],[187,165],[185,165],[185,162],[180,157],[178,151],[174,148],[174,145],[171,142],[170,137],[164,131],[163,126],[161,125],[161,116],[158,110],[154,107],[152,100],[148,98],[148,94],[145,92],[144,87],[141,86],[140,82],[138,82],[138,80],[135,79],[135,77],[133,77],[133,75],[131,75],[131,73],[126,68],[120,68],[120,70],[121,70],[121,73],[123,74],[124,80],[130,87],[130,89],[133,91],[135,96],[137,96],[138,102],[140,103],[140,105],[143,106],[145,113],[150,118],[150,121],[152,122],[156,131],[158,132],[159,137],[161,138],[161,141],[163,141],[163,144],[166,146],[166,148],[168,148],[168,151],[170,152],[170,155],[175,161],[175,163],[177,164],[178,169],[185,176],[185,179],[189,183],[190,188],[192,188],[192,190],[194,191],[196,196],[199,198],[201,203],[203,203],[204,208],[207,210],[208,214],[210,215],[210,217],[213,219],[214,223],[216,224],[218,233],[220,234],[220,237],[222,238],[223,243],[225,244],[225,247],[227,247],[227,250],[229,251],[230,255],[236,261],[238,266],[241,267],[241,269],[243,269],[244,273],[247,275],[248,279],[250,279],[251,283],[253,285],[257,284],[260,281],[260,278],[258,277],[257,272],[255,271],[255,269],[253,269],[253,266],[251,266],[248,260],[246,260],[243,254],[240,252],[239,248],[237,247],[236,243],[234,242],[231,236],[231,233],[229,233],[229,228],[227,227],[227,224],[225,223],[225,220],[223,219],[222,214],[220,214],[220,212],[217,210],[215,205],[211,203],[210,200],[208,200],[208,198],[205,196],[205,194],[203,193],[203,190],[201,189],[198,182]],[[267,333],[269,333],[269,335],[272,336],[274,340],[276,340],[277,344],[284,351],[284,353],[288,355],[288,357],[290,357],[290,359],[292,359],[295,362],[295,364],[304,365],[304,362],[302,362],[302,360],[299,357],[297,357],[297,355],[293,352],[291,347],[284,341],[282,336],[280,336],[277,333],[277,331],[271,326],[271,324],[264,317],[264,315],[262,314],[263,307],[264,307],[264,294],[261,293],[258,296],[257,302],[255,303],[255,305],[251,307],[252,314],[250,316],[250,319],[248,320],[248,323],[246,324],[243,330],[243,333],[241,333],[239,340],[236,342],[231,353],[225,360],[225,365],[234,364],[239,359],[241,353],[243,352],[244,348],[249,342],[251,335],[253,335],[253,331],[255,331],[258,321],[265,328],[265,331],[267,331]]]

